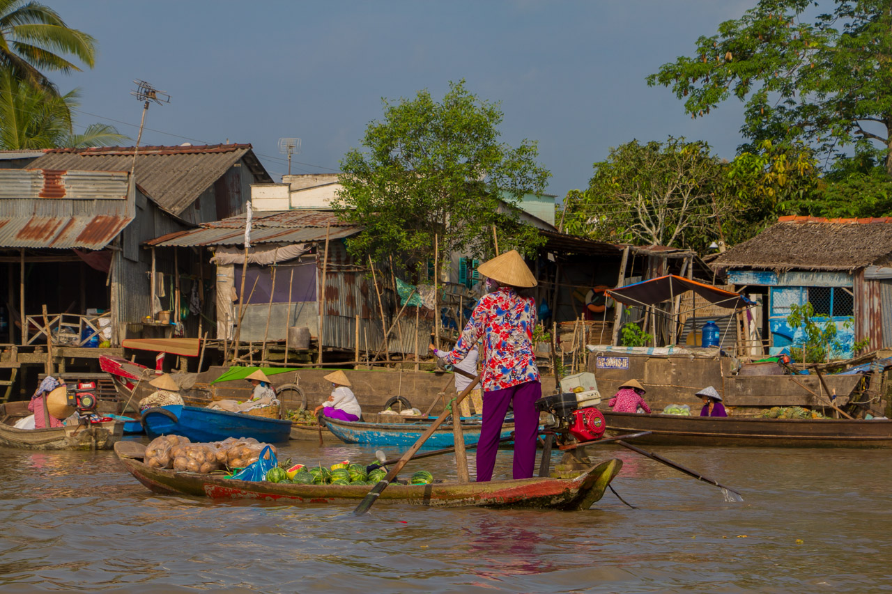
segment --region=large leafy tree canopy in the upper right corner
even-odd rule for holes
[[[648,85],[671,87],[693,118],[737,97],[752,143],[802,140],[825,155],[879,143],[892,175],[892,5],[835,0],[832,12],[808,20],[812,4],[760,0]]]

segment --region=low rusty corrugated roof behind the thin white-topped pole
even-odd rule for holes
[[[252,215],[251,243],[305,243],[343,239],[360,227],[344,223],[326,210],[260,211]],[[244,215],[203,223],[197,229],[161,235],[146,242],[162,247],[238,245],[244,243]]]

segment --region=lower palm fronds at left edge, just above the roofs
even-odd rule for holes
[[[105,124],[90,124],[75,134],[71,110],[76,107],[77,90],[57,95],[0,69],[0,149],[108,146],[128,140]]]

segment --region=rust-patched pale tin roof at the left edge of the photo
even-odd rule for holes
[[[0,247],[101,250],[134,219],[129,177],[0,169]]]

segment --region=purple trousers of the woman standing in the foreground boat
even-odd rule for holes
[[[526,382],[504,390],[483,392],[483,427],[477,446],[477,483],[490,481],[499,451],[501,426],[508,404],[514,408],[514,478],[530,478],[536,462],[536,434],[539,413],[535,401],[542,396],[542,384]]]

